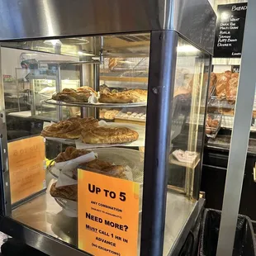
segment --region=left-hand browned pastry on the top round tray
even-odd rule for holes
[[[54,94],[52,99],[60,102],[88,102],[92,92],[97,93],[88,86],[83,86],[76,90],[65,88],[61,92]]]

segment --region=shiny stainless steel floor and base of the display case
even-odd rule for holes
[[[168,192],[163,255],[175,255],[181,249],[201,206],[201,201],[188,201],[183,195]],[[12,211],[12,219],[2,217],[0,230],[46,254],[68,256],[72,251],[73,255],[82,255],[74,248],[78,219],[65,216],[49,191],[18,206]]]

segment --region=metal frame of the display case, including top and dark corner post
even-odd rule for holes
[[[87,11],[85,11],[87,10]],[[93,11],[93,12],[92,12]],[[30,13],[28,16],[27,13]],[[102,17],[104,13],[104,17]],[[69,16],[69,19],[66,17]],[[15,17],[15,18],[13,18]],[[104,19],[104,22],[102,22]],[[70,22],[72,20],[72,22]],[[216,15],[207,0],[9,0],[0,2],[0,40],[103,36],[148,31],[149,86],[145,140],[145,169],[140,255],[160,256],[164,247],[167,163],[170,145],[173,83],[178,36],[212,55]],[[11,43],[11,42],[10,42]],[[10,46],[11,47],[11,46]],[[167,86],[168,85],[168,86]],[[3,99],[2,86],[0,96]],[[84,255],[58,239],[12,220],[7,165],[7,128],[0,101],[1,206],[0,230],[51,255]],[[197,201],[169,254],[177,254],[201,210]],[[170,216],[172,218],[172,216]],[[88,254],[87,254],[88,255]]]

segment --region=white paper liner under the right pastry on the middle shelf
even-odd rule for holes
[[[99,126],[105,127],[127,127],[131,130],[135,130],[139,134],[138,140],[130,143],[120,143],[120,144],[85,144],[82,140],[75,140],[75,145],[77,149],[94,149],[94,148],[106,148],[106,147],[116,147],[116,146],[126,146],[126,147],[145,147],[145,126],[126,124],[126,123],[116,123],[116,122],[106,122],[99,121]]]

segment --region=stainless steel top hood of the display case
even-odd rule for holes
[[[208,0],[3,0],[0,40],[174,30],[212,53]]]

